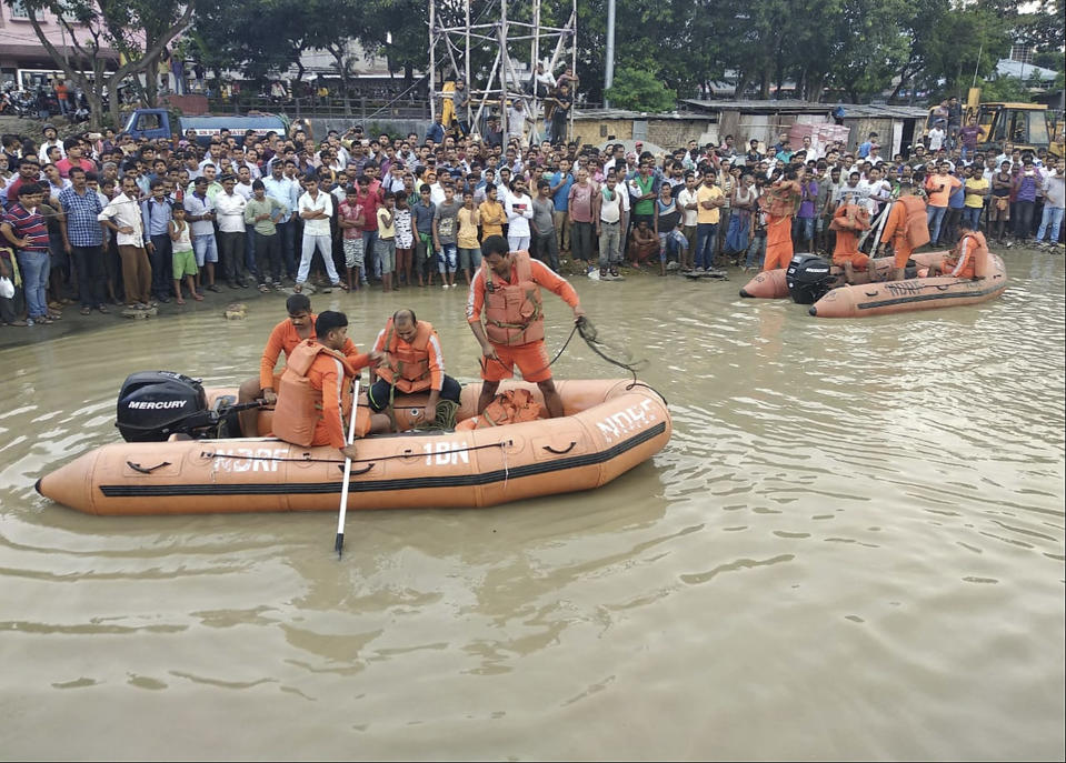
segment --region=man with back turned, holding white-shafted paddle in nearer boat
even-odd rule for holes
[[[315,320],[315,339],[306,339],[287,357],[273,412],[273,434],[295,445],[329,445],[353,459],[345,439],[345,418],[352,414],[351,382],[360,369],[377,363],[378,352],[347,357],[348,317],[327,310]],[[387,431],[389,418],[356,411],[356,433]]]

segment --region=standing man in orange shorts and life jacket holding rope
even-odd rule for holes
[[[562,415],[562,400],[551,381],[544,344],[544,307],[540,288],[558,294],[574,309],[574,319],[585,317],[574,287],[528,252],[508,251],[507,239],[490,235],[481,242],[481,269],[470,283],[467,321],[481,344],[481,396],[478,414],[496,396],[517,365],[522,379],[536,382],[549,418]],[[485,308],[485,325],[481,309]]]

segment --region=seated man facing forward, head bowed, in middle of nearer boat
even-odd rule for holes
[[[462,388],[445,373],[445,358],[440,338],[429,321],[420,321],[414,310],[397,310],[385,324],[373,344],[381,353],[381,362],[370,370],[370,390],[367,400],[370,410],[389,408],[392,395],[414,394],[429,390],[426,418],[432,421],[441,398],[459,404]]]

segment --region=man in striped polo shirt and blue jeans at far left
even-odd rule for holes
[[[19,200],[8,208],[0,223],[3,234],[16,250],[22,271],[30,324],[51,323],[58,313],[48,311],[48,275],[51,270],[48,255],[48,225],[38,205],[44,199],[44,189],[36,182],[19,187]]]

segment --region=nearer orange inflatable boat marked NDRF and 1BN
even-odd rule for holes
[[[177,377],[178,374],[173,374]],[[565,415],[461,432],[358,440],[349,510],[491,506],[599,488],[658,453],[673,424],[666,402],[630,380],[556,381]],[[536,384],[504,382],[500,391]],[[236,390],[207,391],[208,402]],[[462,390],[469,419],[480,384]],[[425,395],[397,398],[417,418]],[[167,403],[140,403],[163,405]],[[260,431],[269,431],[269,413]],[[41,495],[89,514],[337,511],[345,460],[331,448],[273,438],[178,439],[103,445],[38,480]]]

